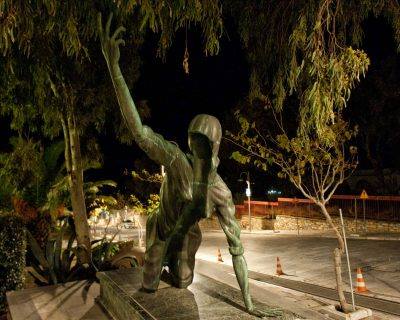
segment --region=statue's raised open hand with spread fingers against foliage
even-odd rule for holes
[[[97,16],[101,50],[103,51],[104,58],[106,59],[109,68],[118,65],[120,57],[119,45],[120,44],[125,45],[125,41],[121,38],[119,39],[117,38],[121,32],[124,32],[126,30],[124,27],[119,27],[110,37],[110,26],[111,26],[112,16],[113,14],[110,13],[105,29],[103,29],[101,13],[99,13]]]

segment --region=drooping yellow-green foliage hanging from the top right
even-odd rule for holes
[[[280,111],[287,97],[296,95],[302,133],[321,135],[366,72],[369,59],[356,47],[370,15],[384,16],[400,44],[395,0],[234,0],[225,1],[224,8],[237,25],[251,67],[250,100]]]

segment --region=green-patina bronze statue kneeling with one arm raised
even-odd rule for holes
[[[189,125],[185,154],[173,142],[142,125],[135,103],[119,67],[119,27],[110,37],[110,15],[103,30],[99,15],[101,47],[112,78],[122,114],[136,143],[147,155],[164,165],[166,175],[160,190],[159,211],[146,225],[146,254],[143,267],[143,290],[155,291],[164,265],[168,266],[173,285],[186,288],[193,281],[195,254],[201,243],[198,221],[215,210],[226,234],[236,278],[247,311],[256,316],[279,315],[279,310],[254,308],[248,282],[246,260],[240,241],[240,227],[235,219],[235,206],[229,188],[217,173],[218,149],[222,137],[217,118],[200,114]]]

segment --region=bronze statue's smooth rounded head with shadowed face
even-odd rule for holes
[[[198,114],[189,124],[189,148],[195,156],[217,159],[222,129],[219,120],[208,114]]]

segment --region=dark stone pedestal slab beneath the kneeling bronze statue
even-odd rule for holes
[[[118,320],[257,319],[245,312],[239,290],[199,274],[188,289],[161,282],[155,293],[139,291],[140,269],[99,272],[97,277],[101,286],[99,302]]]

